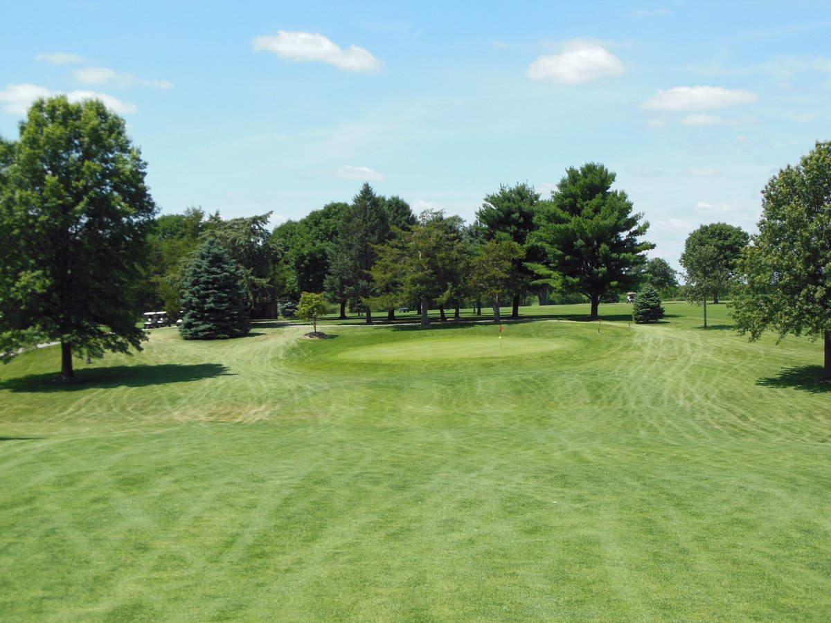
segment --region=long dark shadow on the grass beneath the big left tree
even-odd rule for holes
[[[111,365],[106,368],[76,370],[75,380],[65,383],[54,373],[27,375],[0,382],[0,390],[52,392],[86,390],[89,387],[145,387],[165,383],[233,376],[222,364]]]

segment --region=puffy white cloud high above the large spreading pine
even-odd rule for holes
[[[579,85],[626,72],[622,61],[599,43],[575,39],[562,54],[538,56],[525,75],[535,81]]]

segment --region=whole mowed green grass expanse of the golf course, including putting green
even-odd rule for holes
[[[21,356],[0,618],[828,621],[822,347],[665,307]]]

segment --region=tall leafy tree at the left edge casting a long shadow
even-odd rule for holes
[[[71,380],[73,354],[140,349],[135,286],[155,204],[124,120],[101,101],[38,100],[0,169],[3,361],[59,341]]]

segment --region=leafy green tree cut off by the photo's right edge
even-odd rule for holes
[[[739,263],[735,328],[750,341],[768,329],[821,338],[831,380],[831,142],[770,179],[758,226]]]

